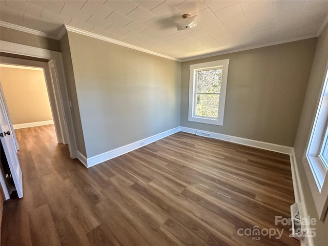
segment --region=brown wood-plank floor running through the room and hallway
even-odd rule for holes
[[[294,203],[288,155],[177,133],[87,169],[52,125],[16,134],[24,197],[4,204],[3,246],[299,245],[275,225]],[[254,227],[284,232],[238,235]]]

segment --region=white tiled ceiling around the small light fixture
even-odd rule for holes
[[[2,22],[56,36],[63,25],[186,59],[318,36],[328,1],[0,1]],[[177,31],[172,20],[197,15]]]

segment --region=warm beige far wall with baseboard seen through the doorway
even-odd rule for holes
[[[13,129],[53,124],[42,68],[0,64],[0,83]]]

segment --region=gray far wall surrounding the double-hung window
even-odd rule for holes
[[[181,126],[293,146],[316,38],[182,63]],[[223,126],[188,121],[189,65],[230,58]]]

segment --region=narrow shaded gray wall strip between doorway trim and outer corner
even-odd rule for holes
[[[81,154],[86,156],[87,152],[86,152],[83,130],[81,125],[80,112],[78,108],[75,79],[74,79],[73,66],[72,66],[72,57],[71,57],[71,51],[70,51],[70,45],[68,42],[67,33],[65,33],[65,35],[60,39],[60,49],[61,49],[61,56],[63,57],[65,80],[67,84],[67,93],[68,93],[69,100],[71,101],[72,104],[71,113],[72,113],[72,121],[73,121],[74,133],[76,138],[76,146],[77,146],[77,150]]]

